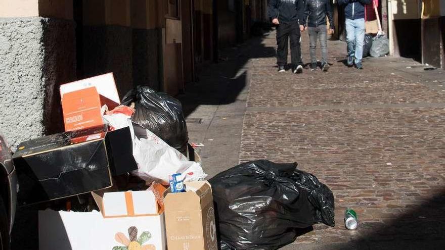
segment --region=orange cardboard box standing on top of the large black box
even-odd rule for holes
[[[65,131],[100,126],[101,101],[96,87],[66,93],[62,98]]]

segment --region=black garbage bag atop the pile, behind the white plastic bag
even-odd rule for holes
[[[138,86],[122,99],[123,105],[130,106],[131,103],[135,103],[136,110],[131,117],[133,122],[150,130],[168,145],[187,155],[189,137],[179,100],[148,86]]]

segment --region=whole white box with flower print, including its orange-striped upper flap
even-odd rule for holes
[[[39,249],[165,250],[159,195],[164,190],[159,185],[147,191],[93,193],[102,212],[110,212],[110,218],[98,211],[39,211]],[[147,213],[155,214],[144,215]]]

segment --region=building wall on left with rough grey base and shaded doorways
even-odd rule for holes
[[[15,146],[63,129],[60,84],[113,72],[172,95],[265,20],[266,0],[0,0],[0,129]]]

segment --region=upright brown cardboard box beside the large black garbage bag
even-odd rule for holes
[[[164,194],[168,250],[216,250],[216,225],[210,183],[184,183],[187,192]]]

